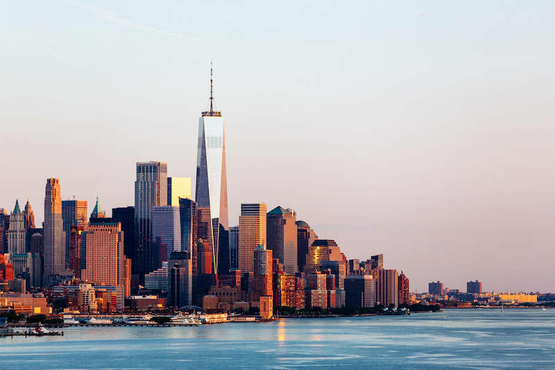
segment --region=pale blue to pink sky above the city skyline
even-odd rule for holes
[[[555,292],[553,1],[1,1],[0,208],[46,178],[133,205],[135,162],[195,176],[227,125],[241,202],[294,208],[411,289]]]

